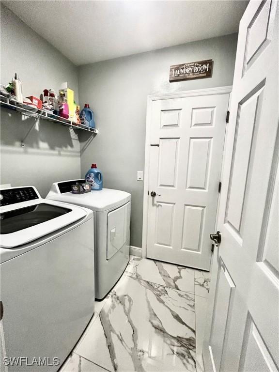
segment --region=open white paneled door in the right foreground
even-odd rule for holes
[[[278,22],[278,1],[250,1],[240,22],[205,371],[279,369]]]

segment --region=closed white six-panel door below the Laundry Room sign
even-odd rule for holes
[[[209,270],[228,103],[228,91],[152,102],[147,257]]]

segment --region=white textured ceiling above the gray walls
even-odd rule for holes
[[[2,1],[76,65],[238,31],[248,1]]]

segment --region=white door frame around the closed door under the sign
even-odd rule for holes
[[[217,87],[217,88],[206,88],[197,89],[192,91],[183,91],[175,93],[161,93],[161,94],[150,94],[147,96],[147,107],[146,107],[146,130],[145,130],[145,156],[144,156],[144,185],[143,185],[143,213],[142,213],[142,258],[147,256],[147,231],[148,231],[148,186],[149,186],[149,158],[150,158],[150,132],[151,132],[151,110],[153,101],[171,98],[186,98],[195,97],[200,95],[213,95],[213,94],[229,94],[229,108],[232,98],[232,85]],[[227,126],[225,131],[224,149],[227,140]],[[222,157],[221,167],[221,179],[223,174],[223,161],[224,161],[224,149]],[[217,214],[219,210],[219,197],[217,202]],[[217,216],[217,215],[216,215]],[[216,221],[217,222],[217,221]],[[216,223],[215,223],[216,224]],[[212,261],[212,260],[211,260]]]

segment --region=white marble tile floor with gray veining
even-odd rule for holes
[[[62,372],[202,372],[210,273],[131,256]]]

